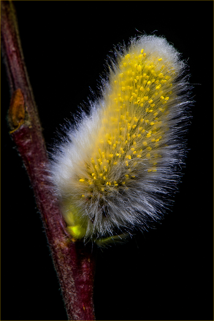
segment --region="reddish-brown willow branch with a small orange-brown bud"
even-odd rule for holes
[[[24,63],[12,1],[1,1],[1,46],[11,90],[11,137],[22,157],[41,213],[69,320],[94,320],[95,253],[72,242],[48,180],[45,141]]]

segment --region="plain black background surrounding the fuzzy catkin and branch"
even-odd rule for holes
[[[45,140],[87,101],[114,45],[164,35],[188,61],[192,119],[184,177],[157,228],[98,252],[97,320],[213,320],[212,6],[208,1],[15,1]],[[211,57],[210,57],[211,56]],[[66,320],[33,191],[8,134],[1,69],[2,320]],[[211,120],[210,120],[211,118]],[[212,143],[211,143],[212,146]],[[211,184],[212,185],[212,184]]]

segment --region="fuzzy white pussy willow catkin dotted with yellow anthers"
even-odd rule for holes
[[[165,211],[185,154],[189,85],[179,56],[164,38],[131,39],[90,115],[54,147],[51,175],[74,239],[145,229]]]

